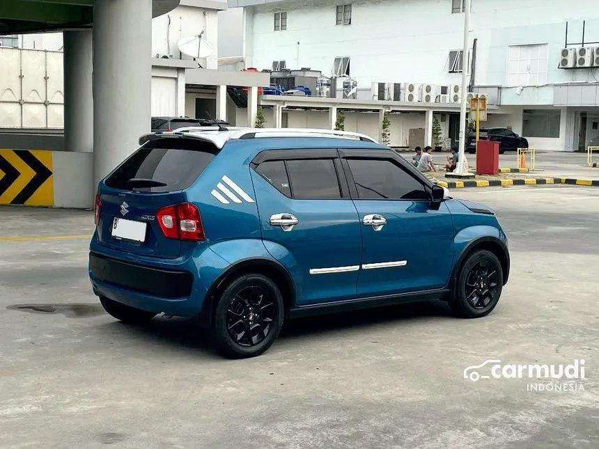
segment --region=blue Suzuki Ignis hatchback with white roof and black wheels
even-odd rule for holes
[[[406,301],[488,315],[508,280],[489,207],[354,133],[164,132],[98,186],[93,291],[127,323],[194,317],[226,356],[284,320]]]

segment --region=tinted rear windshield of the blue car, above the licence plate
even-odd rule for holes
[[[217,152],[211,143],[192,139],[150,141],[125,160],[107,178],[106,185],[114,189],[151,192],[187,189]]]

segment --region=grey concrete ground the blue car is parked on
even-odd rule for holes
[[[188,322],[105,315],[81,237],[91,212],[0,208],[0,446],[598,448],[599,189],[454,194],[495,207],[510,237],[511,281],[489,317],[435,302],[290,322],[243,361]],[[15,308],[31,304],[41,311]],[[584,391],[463,378],[487,359],[585,359]]]

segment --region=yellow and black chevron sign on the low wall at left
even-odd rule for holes
[[[52,151],[0,150],[0,205],[54,205]]]

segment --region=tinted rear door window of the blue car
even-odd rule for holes
[[[333,159],[287,161],[293,198],[341,198]]]

